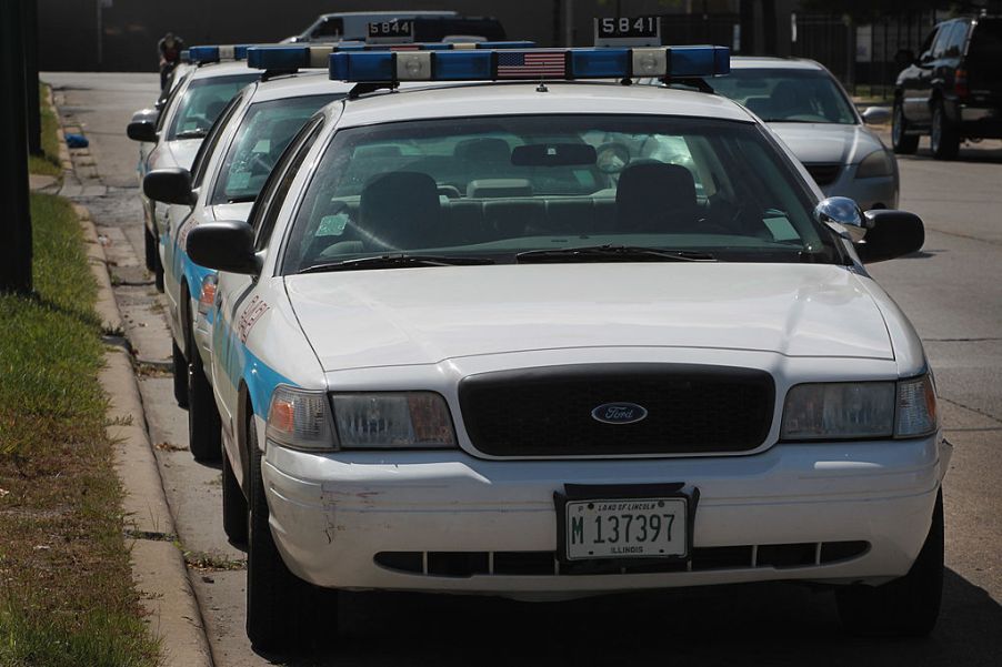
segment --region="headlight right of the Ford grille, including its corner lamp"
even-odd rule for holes
[[[801,384],[786,394],[781,438],[915,437],[936,428],[929,375],[900,382]]]

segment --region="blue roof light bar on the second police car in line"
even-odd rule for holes
[[[274,46],[248,49],[247,65],[258,70],[298,70],[301,68],[329,67],[331,53],[369,53],[393,51],[471,51],[477,49],[531,49],[535,42],[430,42],[405,44],[367,44],[364,42],[341,42],[337,46]]]

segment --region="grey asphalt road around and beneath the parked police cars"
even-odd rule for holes
[[[64,119],[91,141],[88,183],[106,188],[79,201],[118,263],[127,333],[140,358],[166,362],[162,305],[137,259],[138,150],[124,135],[132,111],[152,102],[156,77],[43,79],[56,87]],[[1002,142],[965,146],[959,161],[942,163],[923,141],[900,165],[901,208],[924,220],[925,247],[872,273],[925,342],[955,446],[944,491],[946,584],[932,637],[846,637],[829,592],[783,584],[538,605],[351,594],[342,596],[333,648],[255,655],[243,634],[244,556],[227,544],[219,518],[219,469],[192,461],[170,377],[144,366],[146,418],[217,665],[1002,665]]]

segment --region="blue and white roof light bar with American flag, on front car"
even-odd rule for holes
[[[719,77],[727,47],[332,52],[330,78],[348,82],[505,81]]]

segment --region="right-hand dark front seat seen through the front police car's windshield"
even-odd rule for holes
[[[684,166],[643,162],[630,164],[620,174],[615,190],[618,232],[697,232],[699,218],[695,181]]]

